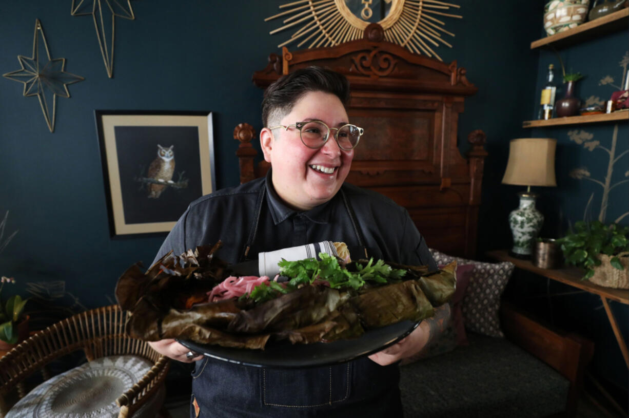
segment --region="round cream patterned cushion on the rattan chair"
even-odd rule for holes
[[[140,381],[152,366],[152,362],[138,356],[94,359],[35,387],[9,410],[6,418],[118,417],[120,407],[116,399]],[[159,402],[158,395],[147,404]],[[150,409],[150,414],[155,416],[155,408],[147,404],[138,412]],[[142,416],[138,412],[133,416]]]

